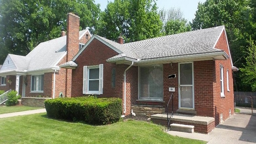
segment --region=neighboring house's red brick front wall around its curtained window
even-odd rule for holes
[[[31,75],[27,75],[28,85],[26,86],[26,97],[36,97],[41,95],[43,97],[52,97],[53,89],[53,73],[44,73],[44,93],[30,93],[31,90]]]

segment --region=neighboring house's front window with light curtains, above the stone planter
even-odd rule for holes
[[[32,92],[44,91],[44,75],[31,76],[31,91]]]

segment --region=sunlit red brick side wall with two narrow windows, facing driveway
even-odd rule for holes
[[[217,42],[216,48],[224,50],[228,55],[228,45],[226,42],[226,36],[223,32],[220,36],[219,41]],[[223,77],[224,77],[224,98],[220,97],[220,65],[223,66]],[[220,123],[220,114],[223,114],[223,120],[226,120],[229,117],[229,109],[231,114],[234,114],[234,90],[233,90],[233,76],[231,70],[231,61],[228,60],[216,60],[215,61],[215,74],[213,81],[213,107],[215,115],[215,125]],[[229,90],[227,91],[227,70],[229,74]]]

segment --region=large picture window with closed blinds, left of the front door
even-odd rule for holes
[[[140,99],[163,100],[163,65],[140,66]]]

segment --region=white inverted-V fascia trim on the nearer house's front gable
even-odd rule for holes
[[[123,53],[120,50],[118,50],[117,48],[115,48],[113,45],[107,43],[106,41],[104,41],[103,39],[101,39],[99,36],[97,35],[93,35],[90,40],[84,45],[84,47],[75,55],[75,57],[72,59],[73,61],[75,61],[77,59],[77,57],[84,51],[84,49],[92,42],[92,40],[96,38],[97,40],[99,40],[100,42],[102,42],[103,44],[107,45],[108,47],[110,47],[112,50],[116,51],[117,53]]]

